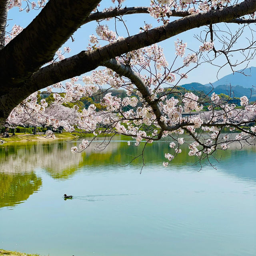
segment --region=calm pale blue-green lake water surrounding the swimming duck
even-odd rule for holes
[[[256,148],[198,172],[167,143],[117,140],[72,154],[63,141],[0,147],[0,248],[50,256],[256,255]],[[64,200],[63,194],[73,194]]]

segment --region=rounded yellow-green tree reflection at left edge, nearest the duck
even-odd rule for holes
[[[26,174],[0,172],[0,208],[16,206],[26,201],[41,186],[42,179],[34,172]]]

